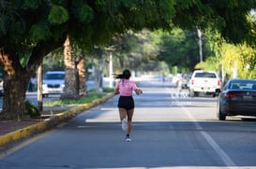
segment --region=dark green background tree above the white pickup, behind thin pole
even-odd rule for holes
[[[192,71],[200,62],[198,36],[195,31],[173,29],[171,33],[157,33],[158,59],[169,64],[170,69],[177,66],[180,71]],[[203,60],[211,54],[207,39],[203,35]]]

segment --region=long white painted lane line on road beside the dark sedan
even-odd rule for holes
[[[192,116],[190,111],[188,111],[187,108],[181,106],[181,108],[186,112],[189,119],[193,121],[195,127],[197,130],[203,130],[202,126],[197,122],[197,120]],[[216,153],[218,154],[219,158],[227,165],[230,166],[230,168],[233,168],[233,166],[236,166],[235,163],[231,160],[231,158],[224,152],[223,149],[221,149],[216,141],[206,132],[200,131],[200,134],[203,135],[204,139],[209,143],[209,145],[214,148]]]

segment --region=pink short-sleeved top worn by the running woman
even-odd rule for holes
[[[122,79],[116,83],[116,89],[119,89],[120,95],[131,96],[135,89],[138,89],[136,83],[129,79]]]

